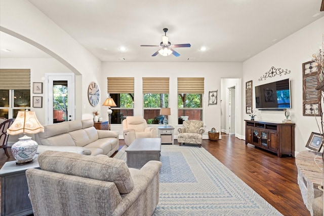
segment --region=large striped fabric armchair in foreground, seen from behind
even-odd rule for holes
[[[46,151],[26,171],[34,215],[152,215],[160,161],[141,169],[105,155]],[[51,187],[49,187],[51,186]]]

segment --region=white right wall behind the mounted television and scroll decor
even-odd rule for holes
[[[253,88],[255,86],[270,83],[283,79],[291,79],[292,87],[292,109],[290,111],[292,121],[296,123],[295,127],[295,150],[300,152],[305,150],[306,142],[311,132],[319,132],[315,117],[303,116],[303,84],[302,84],[302,63],[312,59],[312,54],[318,51],[322,43],[324,34],[324,17],[309,24],[308,26],[293,33],[286,39],[276,43],[272,47],[264,50],[258,55],[250,58],[243,63],[242,83],[252,80]],[[271,66],[276,68],[291,70],[288,75],[276,76],[263,81],[258,79],[268,71]],[[245,107],[245,86],[242,86],[242,105]],[[255,92],[253,89],[253,98]],[[253,100],[255,107],[255,100]],[[242,116],[249,119],[242,109]],[[256,120],[277,121],[285,119],[284,111],[258,111]],[[319,119],[319,118],[318,118]],[[245,134],[245,122],[241,122],[241,134]]]

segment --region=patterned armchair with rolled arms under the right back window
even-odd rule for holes
[[[199,120],[187,120],[183,122],[183,127],[178,128],[178,143],[192,143],[198,144],[201,147],[203,141],[204,122]]]

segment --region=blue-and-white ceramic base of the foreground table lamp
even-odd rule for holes
[[[24,135],[11,147],[11,152],[17,160],[16,164],[24,164],[33,161],[37,149],[37,142],[32,140],[31,137]]]

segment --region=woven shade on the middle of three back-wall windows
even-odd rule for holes
[[[169,77],[143,77],[143,94],[169,94]]]

